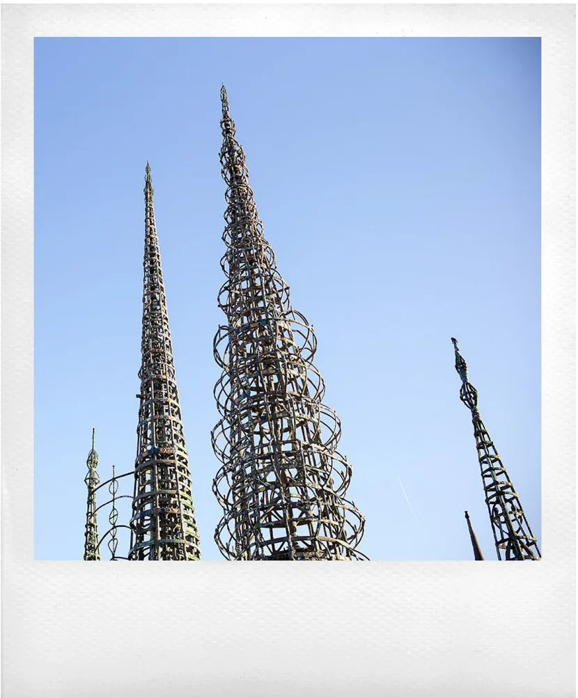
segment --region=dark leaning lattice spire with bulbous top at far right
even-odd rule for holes
[[[489,437],[477,410],[477,390],[468,382],[468,366],[459,353],[457,339],[452,337],[456,371],[461,378],[459,396],[472,413],[477,459],[494,533],[498,560],[540,560],[540,549],[522,509],[514,485],[508,477],[496,447]]]

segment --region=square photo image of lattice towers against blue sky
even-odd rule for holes
[[[540,38],[34,47],[35,558],[540,560]]]

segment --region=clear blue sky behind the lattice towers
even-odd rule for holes
[[[37,38],[36,558],[82,558],[93,426],[102,480],[134,466],[149,160],[202,559],[223,559],[221,82],[316,330],[360,549],[471,559],[467,509],[496,559],[451,336],[541,543],[540,39]]]

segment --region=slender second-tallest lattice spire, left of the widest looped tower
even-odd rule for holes
[[[151,168],[144,184],[144,291],[131,560],[198,560],[199,537],[154,220]]]

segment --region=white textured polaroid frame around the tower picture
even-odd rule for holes
[[[540,563],[34,561],[35,36],[542,37]],[[3,696],[575,695],[575,6],[3,5],[2,88]]]

